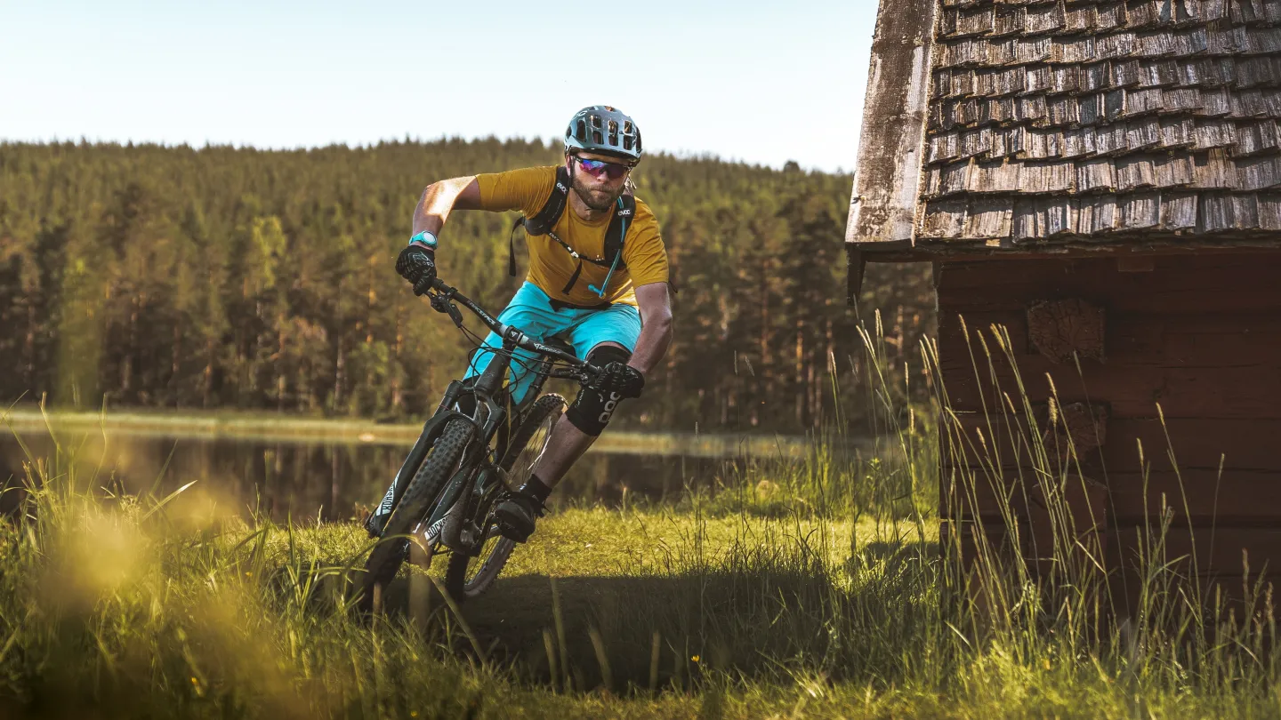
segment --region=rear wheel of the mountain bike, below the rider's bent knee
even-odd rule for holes
[[[552,428],[565,413],[565,398],[556,393],[539,397],[516,428],[498,466],[507,473],[512,488],[529,479],[534,461],[542,455],[551,438]],[[455,552],[445,574],[445,588],[455,602],[465,602],[483,593],[502,573],[516,543],[502,537],[492,519],[493,506],[502,496],[503,486],[497,479],[489,484],[469,512],[483,533],[480,547],[474,555]]]

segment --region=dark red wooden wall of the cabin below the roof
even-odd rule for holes
[[[1026,424],[1013,364],[1032,402],[1050,397],[1052,380],[1062,404],[1081,404],[1098,420],[1097,434],[1073,438],[1082,450],[1072,475],[1079,469],[1088,480],[1076,483],[1072,502],[1104,509],[1095,520],[1109,568],[1134,564],[1136,529],[1158,521],[1152,515],[1162,493],[1172,512],[1167,556],[1195,548],[1202,578],[1235,578],[1239,587],[1243,548],[1253,571],[1264,562],[1281,566],[1281,252],[945,261],[935,264],[935,284],[949,405],[966,428],[963,442],[981,433],[989,447],[1002,448],[1003,482],[1020,468],[1036,482],[1026,450],[999,439],[1002,428]],[[1027,309],[1062,300],[1102,309],[1103,361],[1054,363],[1030,341]],[[1008,331],[1008,356],[993,342],[993,324]],[[990,366],[975,342],[979,333],[994,355]],[[997,410],[1007,402],[1003,392],[1016,413]],[[1089,448],[1090,441],[1102,445]],[[956,477],[949,470],[958,465],[983,461],[951,445],[944,479]],[[994,534],[1002,525],[999,487],[980,488],[975,509]],[[945,482],[944,518],[971,515],[970,503],[947,496]],[[1036,502],[1018,507],[1024,534],[1034,537],[1044,523]]]

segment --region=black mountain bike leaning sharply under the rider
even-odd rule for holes
[[[573,355],[561,341],[539,342],[520,328],[500,323],[457,288],[439,278],[427,292],[432,309],[450,315],[464,333],[459,305],[470,310],[502,338],[488,366],[468,380],[453,380],[436,413],[423,425],[414,448],[365,527],[379,538],[365,561],[359,607],[378,605],[382,589],[396,577],[416,542],[427,557],[450,553],[445,589],[464,602],[484,592],[506,565],[515,542],[503,537],[493,510],[507,492],[519,488],[542,454],[551,430],[565,411],[565,398],[539,396],[548,378],[578,380],[592,387],[603,373]],[[473,336],[474,337],[474,336]],[[525,369],[534,373],[524,401],[514,406],[505,383],[516,348],[535,356]],[[475,407],[471,415],[459,410]]]

